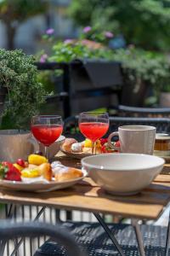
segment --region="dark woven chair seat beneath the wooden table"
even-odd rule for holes
[[[116,251],[116,247],[114,247],[100,224],[67,222],[63,225],[67,229],[70,229],[71,234],[76,237],[77,244],[82,247],[82,251],[86,250],[88,255],[119,255]],[[154,225],[141,225],[140,227],[144,238],[144,250],[146,255],[164,256],[167,228]],[[139,255],[135,233],[131,225],[109,224],[109,228],[116,236],[126,256]],[[57,251],[59,253],[58,255],[65,253],[62,247],[59,247],[57,243],[52,243],[49,240],[38,249],[34,256],[53,256],[54,251]]]

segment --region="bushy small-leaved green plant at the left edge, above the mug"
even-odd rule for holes
[[[0,49],[0,91],[3,91],[4,100],[0,105],[2,129],[26,129],[31,116],[38,113],[45,101],[34,61],[33,56],[21,50]]]

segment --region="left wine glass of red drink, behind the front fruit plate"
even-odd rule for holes
[[[60,115],[36,115],[31,119],[31,132],[44,145],[47,159],[48,147],[59,138],[62,131],[63,121]]]

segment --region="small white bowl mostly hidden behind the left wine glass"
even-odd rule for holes
[[[61,135],[59,138],[48,147],[49,158],[53,158],[59,152],[60,146],[65,142],[65,136]],[[40,151],[45,154],[44,146],[40,144]]]

